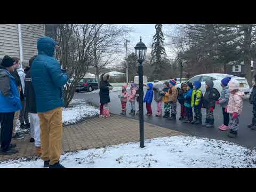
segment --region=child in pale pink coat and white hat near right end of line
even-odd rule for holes
[[[234,138],[239,130],[238,117],[243,111],[244,93],[239,91],[239,82],[236,80],[230,80],[228,83],[228,90],[230,91],[230,97],[226,111],[231,115],[230,133],[228,134],[228,137]]]

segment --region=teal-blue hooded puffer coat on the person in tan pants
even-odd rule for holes
[[[36,94],[38,113],[63,107],[63,85],[68,74],[62,71],[58,60],[53,58],[55,42],[50,37],[37,40],[38,56],[31,67],[31,77]]]

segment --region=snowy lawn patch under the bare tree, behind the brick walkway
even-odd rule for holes
[[[62,108],[63,125],[71,125],[99,115],[99,108],[92,106],[83,99],[73,99],[68,108]],[[20,129],[20,121],[16,124],[17,132],[26,133]]]

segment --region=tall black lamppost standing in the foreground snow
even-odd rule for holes
[[[145,60],[145,55],[147,52],[147,47],[146,45],[141,42],[141,37],[140,37],[140,42],[137,43],[137,45],[134,47],[135,49],[135,55],[137,57],[137,60],[139,62],[139,68],[138,68],[138,74],[139,74],[139,98],[140,98],[140,147],[144,147],[144,112],[143,112],[143,66],[142,62]]]

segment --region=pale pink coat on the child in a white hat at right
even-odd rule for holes
[[[228,113],[233,114],[234,112],[238,115],[242,114],[243,111],[243,97],[244,93],[241,91],[236,92],[235,94],[230,94],[228,100]]]

